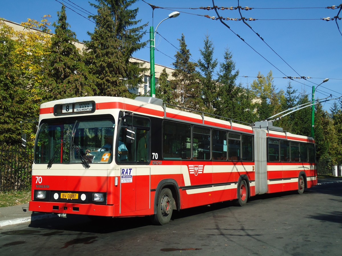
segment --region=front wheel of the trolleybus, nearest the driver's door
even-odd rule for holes
[[[154,215],[152,222],[156,225],[165,225],[170,222],[172,215],[173,197],[169,188],[163,188],[157,201],[157,213]]]

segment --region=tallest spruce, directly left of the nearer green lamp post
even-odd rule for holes
[[[147,24],[137,26],[138,9],[129,7],[136,0],[97,0],[91,3],[97,14],[90,16],[96,23],[93,33],[88,32],[85,59],[101,96],[132,98],[129,87],[143,82],[147,70],[142,63],[131,61],[132,54],[146,45],[142,32]]]

